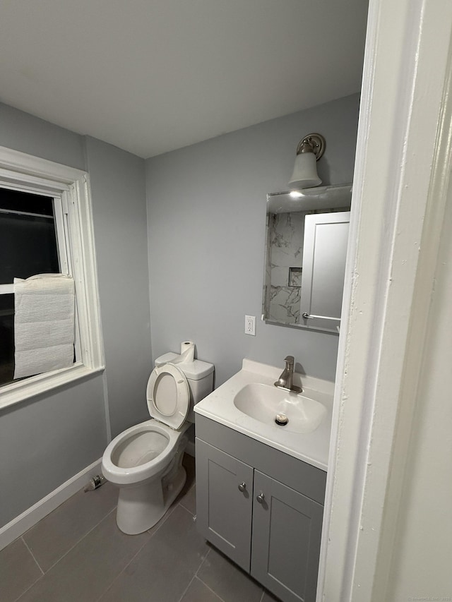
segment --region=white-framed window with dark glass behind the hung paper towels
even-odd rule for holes
[[[76,328],[69,368],[13,380],[15,277],[74,279]],[[88,175],[0,147],[0,407],[102,370]]]

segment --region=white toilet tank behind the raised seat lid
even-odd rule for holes
[[[157,357],[155,360],[155,366],[162,366],[164,363],[175,363],[177,368],[182,370],[186,376],[186,380],[189,383],[190,388],[190,410],[186,417],[189,422],[195,421],[195,414],[193,411],[194,404],[201,402],[209,393],[213,391],[213,363],[207,361],[201,361],[195,359],[194,361],[188,362],[177,362],[179,354],[163,354]]]

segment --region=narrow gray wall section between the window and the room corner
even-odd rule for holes
[[[86,139],[112,437],[149,419],[152,370],[144,161]]]

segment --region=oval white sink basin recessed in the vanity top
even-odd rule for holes
[[[261,383],[242,387],[234,396],[234,406],[264,424],[300,434],[315,431],[327,414],[323,404],[304,397],[302,393],[283,391]]]

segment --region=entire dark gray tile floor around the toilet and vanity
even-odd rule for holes
[[[198,534],[194,459],[184,465],[184,490],[141,535],[117,528],[110,483],[73,495],[0,551],[1,602],[277,600]]]

